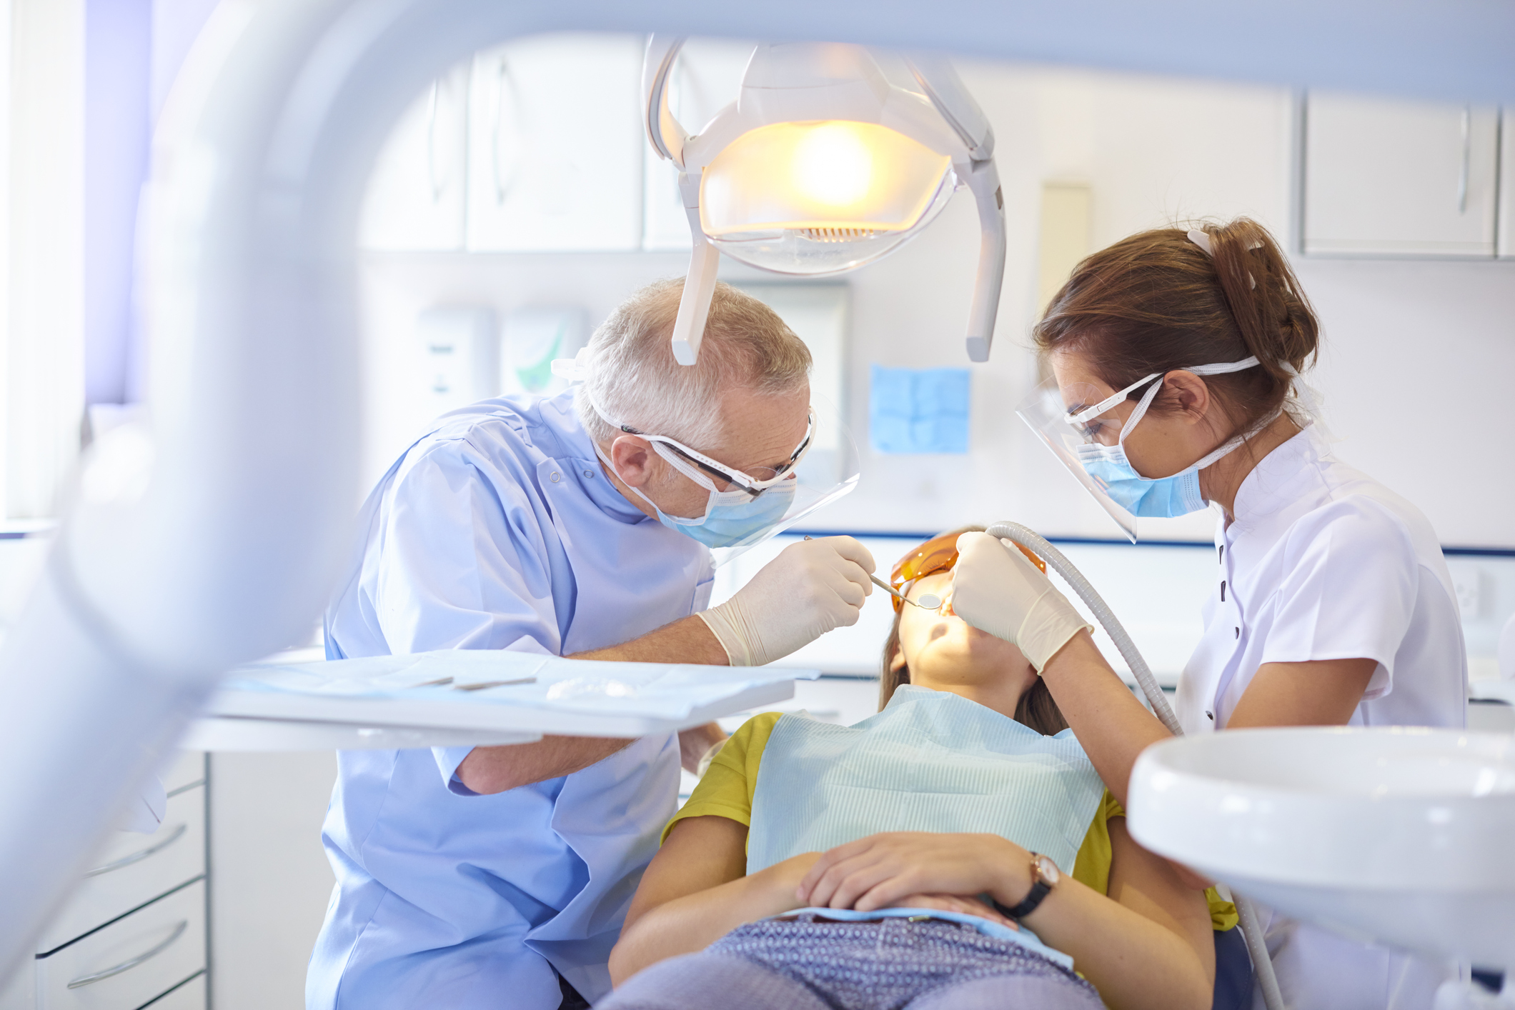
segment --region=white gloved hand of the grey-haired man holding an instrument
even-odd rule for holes
[[[732,666],[762,666],[857,622],[873,592],[873,554],[850,536],[800,541],[735,597],[700,613]]]

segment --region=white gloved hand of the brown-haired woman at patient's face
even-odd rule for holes
[[[1024,554],[988,533],[957,538],[951,609],[980,631],[1018,645],[1038,674],[1080,628],[1094,630]]]

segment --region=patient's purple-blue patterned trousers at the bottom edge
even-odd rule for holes
[[[627,980],[600,1010],[1100,1010],[1094,986],[951,922],[751,922]]]

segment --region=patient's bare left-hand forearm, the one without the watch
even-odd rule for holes
[[[611,981],[620,986],[661,960],[703,951],[739,925],[800,909],[795,887],[818,857],[820,853],[795,856],[648,910],[626,927],[611,951]]]

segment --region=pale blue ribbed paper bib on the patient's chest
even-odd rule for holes
[[[1104,796],[1073,736],[904,684],[856,725],[785,715],[762,753],[747,872],[880,831],[992,831],[1073,869]]]

